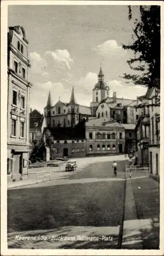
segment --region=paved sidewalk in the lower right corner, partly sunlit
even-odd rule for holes
[[[159,248],[159,183],[127,179],[122,249]]]

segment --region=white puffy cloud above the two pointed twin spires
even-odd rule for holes
[[[69,70],[71,69],[70,65],[73,63],[73,60],[70,57],[70,54],[67,50],[56,50],[54,52],[47,51],[45,55],[51,56],[54,61],[60,63],[62,66],[67,67]]]

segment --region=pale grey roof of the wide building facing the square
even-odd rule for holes
[[[114,119],[108,119],[104,117],[89,119],[89,121],[86,122],[86,126],[123,127]]]

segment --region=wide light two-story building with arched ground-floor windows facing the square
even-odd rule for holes
[[[108,118],[92,118],[86,122],[87,155],[116,154],[125,150],[125,128]]]

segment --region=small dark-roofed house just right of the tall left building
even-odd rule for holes
[[[31,109],[30,111],[30,134],[29,134],[29,142],[32,143],[36,138],[40,136],[42,137],[43,129],[46,127],[45,118],[43,114],[41,114],[37,110]]]

